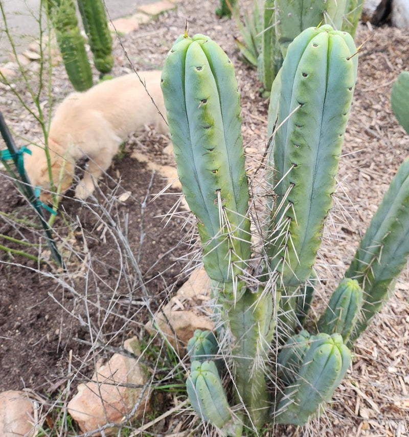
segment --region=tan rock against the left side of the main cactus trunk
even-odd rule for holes
[[[205,269],[197,269],[165,305],[163,313],[156,315],[156,325],[180,357],[185,355],[186,344],[196,329],[211,331],[214,328],[210,311],[202,305],[210,299],[210,288]],[[151,321],[146,329],[151,334],[157,332]]]

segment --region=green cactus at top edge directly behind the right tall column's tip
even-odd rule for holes
[[[279,24],[277,38],[283,57],[289,43],[303,30],[319,26],[321,23],[340,30],[343,24],[346,0],[275,0]]]

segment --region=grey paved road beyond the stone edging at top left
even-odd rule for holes
[[[157,0],[105,0],[111,19],[130,15],[140,5],[154,3]],[[6,12],[7,24],[19,51],[26,48],[28,41],[38,35],[38,17],[40,0],[0,0]],[[4,20],[0,17],[0,60],[7,59],[10,50],[7,37],[4,33]]]

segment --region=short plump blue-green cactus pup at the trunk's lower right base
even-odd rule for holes
[[[339,334],[317,334],[307,342],[297,379],[272,409],[276,423],[304,425],[331,400],[351,364],[351,352]]]

